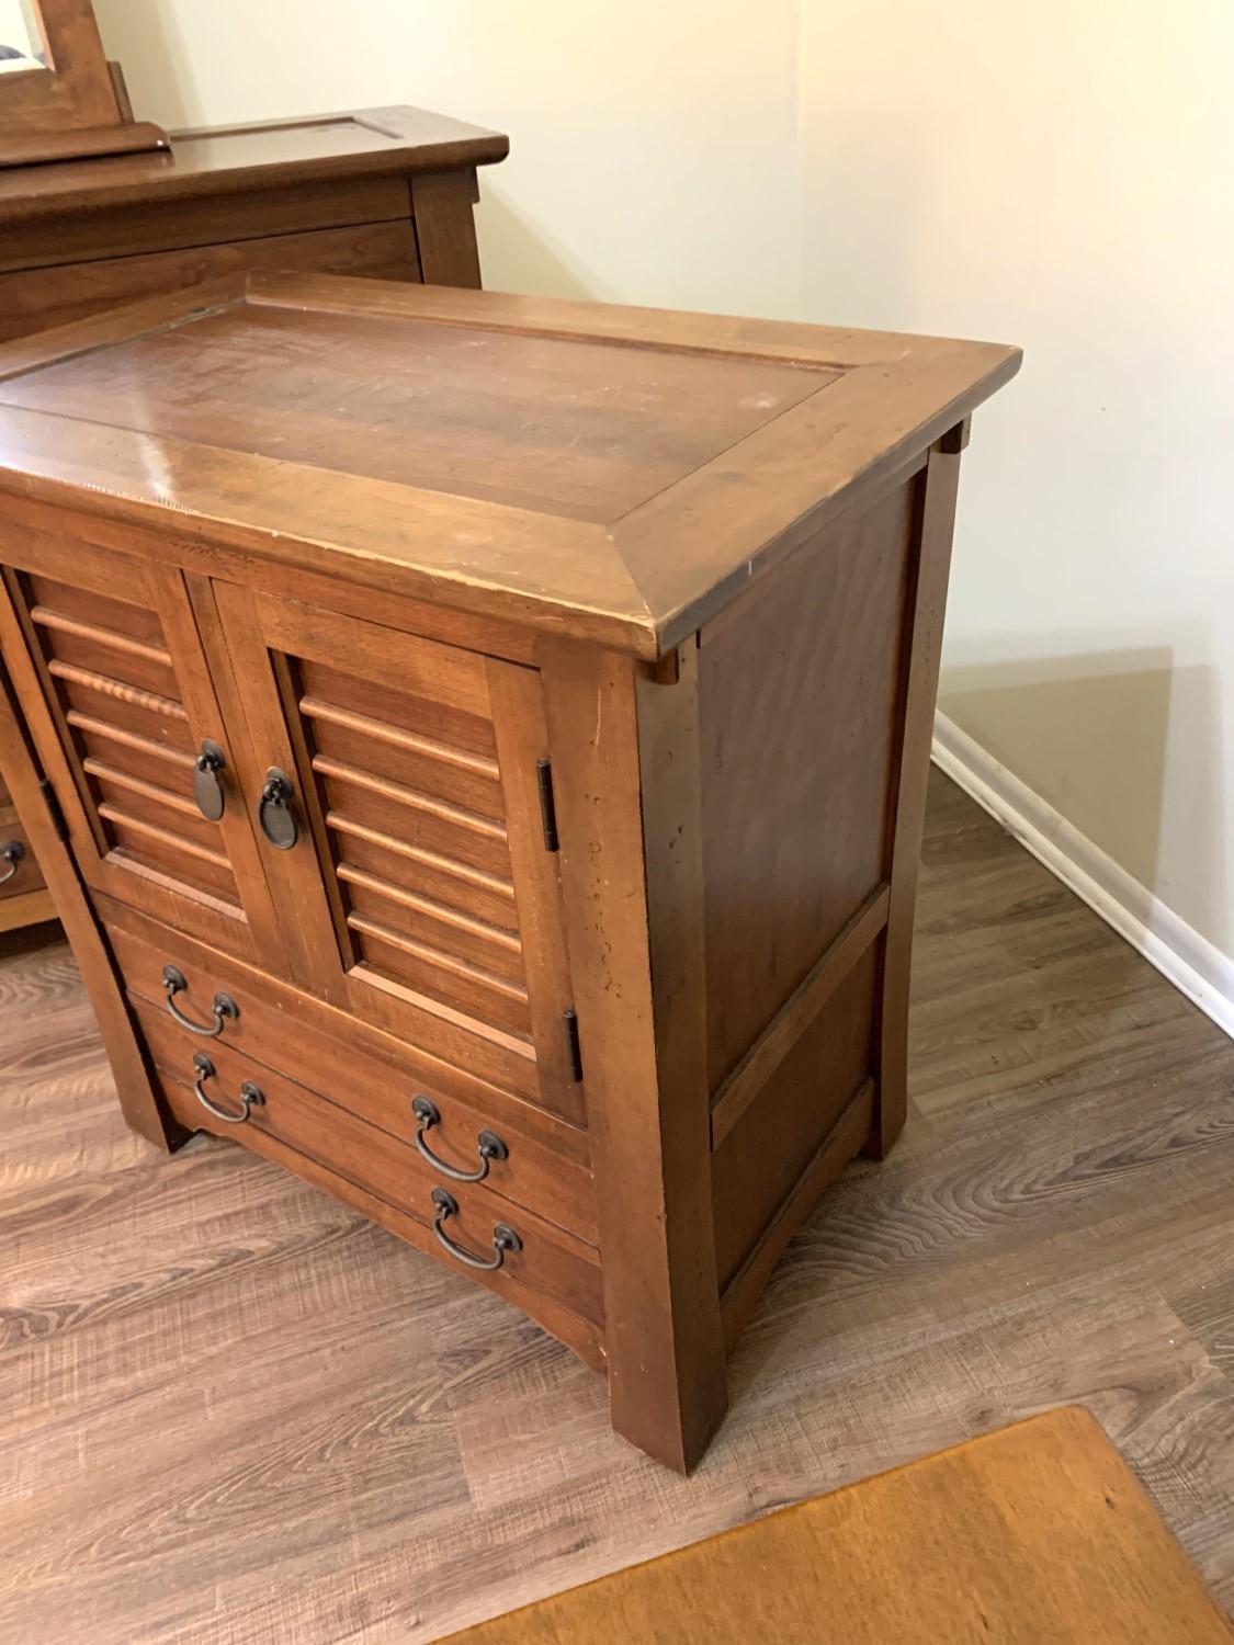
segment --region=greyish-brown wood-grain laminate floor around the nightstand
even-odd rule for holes
[[[0,1640],[415,1645],[1068,1400],[1234,1604],[1234,1045],[938,773],[912,1074],[683,1480],[499,1300],[128,1135],[67,948],[0,938]]]

